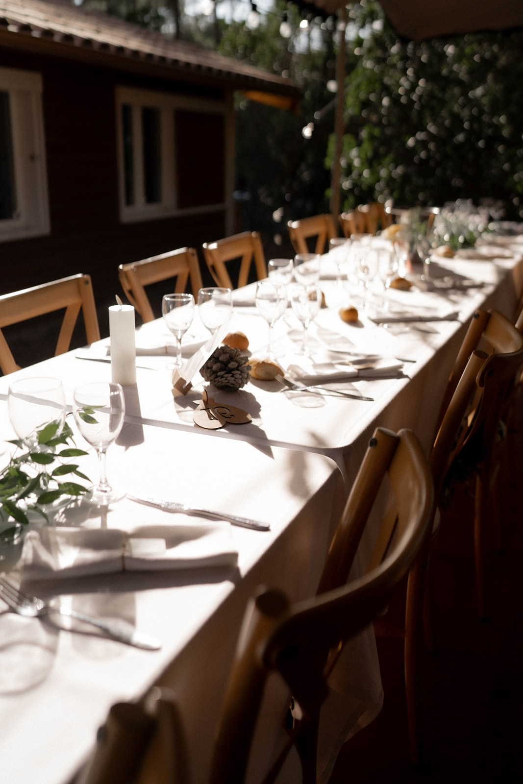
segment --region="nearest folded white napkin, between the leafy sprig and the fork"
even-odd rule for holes
[[[230,526],[191,524],[117,528],[40,528],[27,533],[24,579],[63,579],[118,572],[227,566],[238,563]]]

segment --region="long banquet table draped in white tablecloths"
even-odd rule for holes
[[[520,238],[499,238],[472,254],[439,263],[459,276],[459,287],[393,296],[398,307],[425,314],[430,308],[456,310],[453,321],[383,328],[362,313],[356,327],[345,325],[337,309],[347,293],[333,281],[322,283],[332,307],[321,311],[311,329],[315,351],[345,340],[357,352],[411,360],[397,378],[356,379],[343,385],[373,397],[373,402],[289,394],[277,383],[249,382],[238,393],[216,391],[214,397],[245,408],[252,423],[200,430],[192,412],[202,386],[195,383],[187,396],[173,398],[165,356],[137,358],[136,387],[125,390],[125,426],[108,452],[110,481],[135,495],[198,501],[200,506],[258,518],[271,524],[271,532],[231,528],[238,549],[235,569],[122,574],[69,580],[61,586],[61,601],[92,614],[124,618],[160,637],[158,652],[92,635],[58,633],[7,612],[0,615],[0,672],[9,673],[0,677],[2,781],[21,784],[37,776],[39,784],[66,784],[89,753],[112,702],[135,699],[152,684],[168,684],[183,717],[191,782],[205,782],[231,656],[245,604],[256,586],[278,586],[292,599],[314,592],[341,504],[374,426],[410,426],[428,452],[445,379],[474,309],[496,307],[509,316],[514,312],[523,288]],[[246,289],[235,296],[238,307],[231,328],[249,336],[253,354],[263,354],[267,325],[252,302],[245,304],[252,293]],[[198,332],[198,325],[195,329]],[[145,325],[138,336],[138,343],[140,336],[162,338],[161,322]],[[278,323],[275,337],[281,364],[299,361],[292,352],[300,334],[290,311]],[[14,377],[60,377],[71,403],[77,384],[109,379],[110,365],[99,361],[103,354],[104,342],[0,379],[2,439],[12,437],[5,400]],[[85,472],[96,476],[93,457],[86,462]],[[173,516],[129,499],[111,506],[107,514],[82,504],[61,510],[56,518],[58,525],[125,530],[172,523]],[[57,592],[53,585],[37,587],[44,597]],[[321,780],[328,778],[341,742],[380,708],[372,634],[347,648],[342,672],[340,683],[331,684],[337,724],[332,713],[322,720],[326,751]],[[260,745],[259,770],[263,754],[271,750],[271,744]]]

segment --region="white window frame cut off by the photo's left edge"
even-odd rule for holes
[[[0,68],[0,90],[9,93],[16,214],[0,220],[0,242],[50,232],[42,74]]]

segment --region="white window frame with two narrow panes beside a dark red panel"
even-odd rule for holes
[[[129,104],[133,110],[133,182],[135,204],[125,204],[125,166],[122,129],[122,105]],[[176,109],[200,111],[202,114],[222,114],[227,128],[227,104],[219,100],[206,100],[187,96],[176,96],[154,90],[117,87],[115,95],[116,130],[118,147],[118,199],[122,223],[135,223],[140,220],[216,212],[226,209],[226,201],[201,207],[179,209],[176,205],[176,128],[174,112]],[[142,124],[141,110],[145,107],[160,111],[161,134],[161,201],[147,204],[143,192]],[[227,134],[226,134],[227,136]],[[224,144],[225,159],[227,141]]]

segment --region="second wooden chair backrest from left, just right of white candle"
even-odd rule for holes
[[[149,259],[120,264],[118,277],[129,302],[144,322],[154,321],[154,313],[144,286],[176,278],[174,291],[181,294],[187,289],[187,281],[191,278],[194,299],[198,295],[198,289],[202,288],[202,274],[194,248],[180,248],[160,253],[159,256],[151,256]]]

